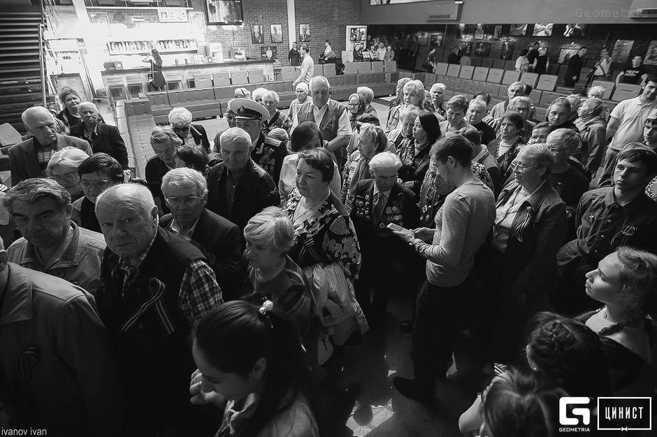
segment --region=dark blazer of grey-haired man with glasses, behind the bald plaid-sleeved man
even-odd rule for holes
[[[173,216],[166,214],[160,218],[159,225],[168,230],[171,222]],[[203,209],[192,234],[192,243],[208,257],[208,265],[215,271],[224,298],[237,296],[246,277],[242,270],[240,228],[226,218]]]

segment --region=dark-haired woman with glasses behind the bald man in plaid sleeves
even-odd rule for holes
[[[124,182],[121,164],[108,154],[93,154],[78,165],[78,175],[78,185],[85,195],[73,202],[71,219],[81,228],[101,232],[95,212],[96,199],[110,186]]]

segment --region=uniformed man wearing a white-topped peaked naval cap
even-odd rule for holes
[[[262,133],[262,122],[269,119],[269,111],[249,98],[233,98],[229,101],[229,109],[235,112],[236,126],[247,131],[251,137],[251,159],[278,184],[287,147],[284,142]]]

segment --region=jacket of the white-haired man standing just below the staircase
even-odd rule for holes
[[[43,171],[41,170],[41,165],[38,162],[38,156],[36,154],[36,146],[36,139],[29,138],[29,140],[19,142],[9,149],[9,168],[11,170],[12,185],[16,185],[31,177],[43,177]],[[58,133],[57,142],[53,149],[57,151],[68,146],[78,147],[78,149],[86,151],[89,156],[94,154],[88,142],[80,140],[80,138],[69,137],[68,135],[59,135]]]

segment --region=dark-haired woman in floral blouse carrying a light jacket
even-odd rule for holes
[[[326,149],[301,152],[297,189],[290,194],[284,211],[294,225],[289,257],[310,281],[315,311],[322,315],[326,334],[333,345],[342,346],[354,332],[363,334],[368,325],[352,283],[361,266],[356,231],[345,208],[330,196],[334,171]]]

